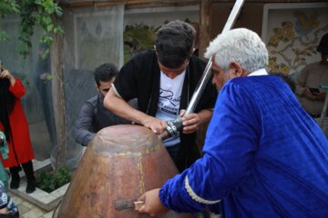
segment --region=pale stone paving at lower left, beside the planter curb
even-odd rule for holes
[[[8,193],[13,201],[18,206],[18,211],[21,218],[51,218],[54,211],[46,212],[36,204],[29,203],[25,199],[15,195],[15,193]]]

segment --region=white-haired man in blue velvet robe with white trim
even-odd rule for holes
[[[220,89],[204,156],[143,194],[151,216],[327,217],[328,142],[288,84],[268,75],[268,51],[247,29],[218,35],[206,52]]]

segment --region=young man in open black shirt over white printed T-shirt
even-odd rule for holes
[[[105,97],[105,106],[137,124],[149,127],[154,133],[165,130],[166,122],[174,120],[189,104],[205,63],[192,55],[195,29],[182,21],[163,25],[156,33],[153,50],[137,54],[125,64]],[[196,130],[210,120],[216,89],[208,84],[194,113],[183,118],[179,136],[163,143],[179,170],[200,158],[196,145]],[[138,98],[138,108],[127,101]]]

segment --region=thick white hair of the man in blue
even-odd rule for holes
[[[268,65],[269,54],[261,38],[249,29],[232,29],[218,35],[210,42],[205,57],[215,55],[214,62],[227,72],[231,62],[241,64],[247,72],[253,72]]]

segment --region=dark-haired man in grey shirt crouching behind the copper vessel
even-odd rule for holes
[[[78,144],[87,146],[95,134],[107,126],[131,123],[108,111],[103,104],[104,96],[108,93],[117,74],[118,68],[114,64],[101,64],[96,68],[94,75],[98,94],[87,100],[78,115],[76,125]],[[135,102],[130,104],[136,107]]]

